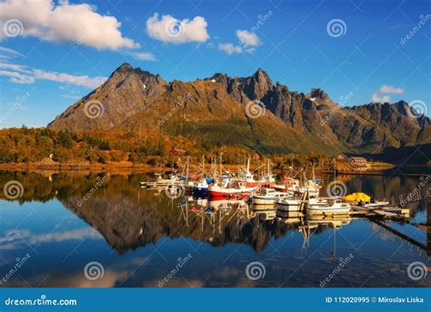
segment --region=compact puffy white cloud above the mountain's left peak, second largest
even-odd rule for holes
[[[209,39],[207,25],[202,16],[195,16],[192,20],[179,20],[172,15],[162,15],[159,19],[159,15],[155,13],[146,20],[146,33],[156,40],[171,44],[205,42]]]

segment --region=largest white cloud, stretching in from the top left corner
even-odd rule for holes
[[[75,42],[97,49],[138,48],[124,37],[121,23],[114,16],[95,12],[94,5],[69,4],[52,0],[6,0],[0,3],[0,40],[6,39],[5,23],[16,19],[23,36],[35,36],[50,42]],[[21,32],[20,31],[20,32]]]

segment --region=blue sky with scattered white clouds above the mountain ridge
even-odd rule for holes
[[[124,62],[168,81],[261,67],[346,106],[431,112],[426,0],[6,0],[0,23],[1,127],[45,126]]]

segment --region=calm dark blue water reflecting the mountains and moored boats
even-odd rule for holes
[[[430,274],[407,276],[412,262],[429,267],[424,229],[386,223],[425,250],[366,219],[310,220],[241,202],[170,199],[139,188],[147,178],[0,172],[2,188],[9,181],[24,187],[16,199],[0,194],[0,286],[319,287],[326,277],[326,287],[431,286]],[[340,178],[349,192],[396,200],[421,182]],[[426,222],[426,205],[429,211],[429,202],[409,205],[412,222]],[[260,264],[249,278],[251,262]]]

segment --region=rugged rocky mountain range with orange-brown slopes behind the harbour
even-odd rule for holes
[[[274,84],[260,68],[166,82],[125,63],[48,127],[162,132],[262,153],[359,154],[431,143],[429,118],[412,111],[405,101],[342,106],[320,88],[304,94]]]

